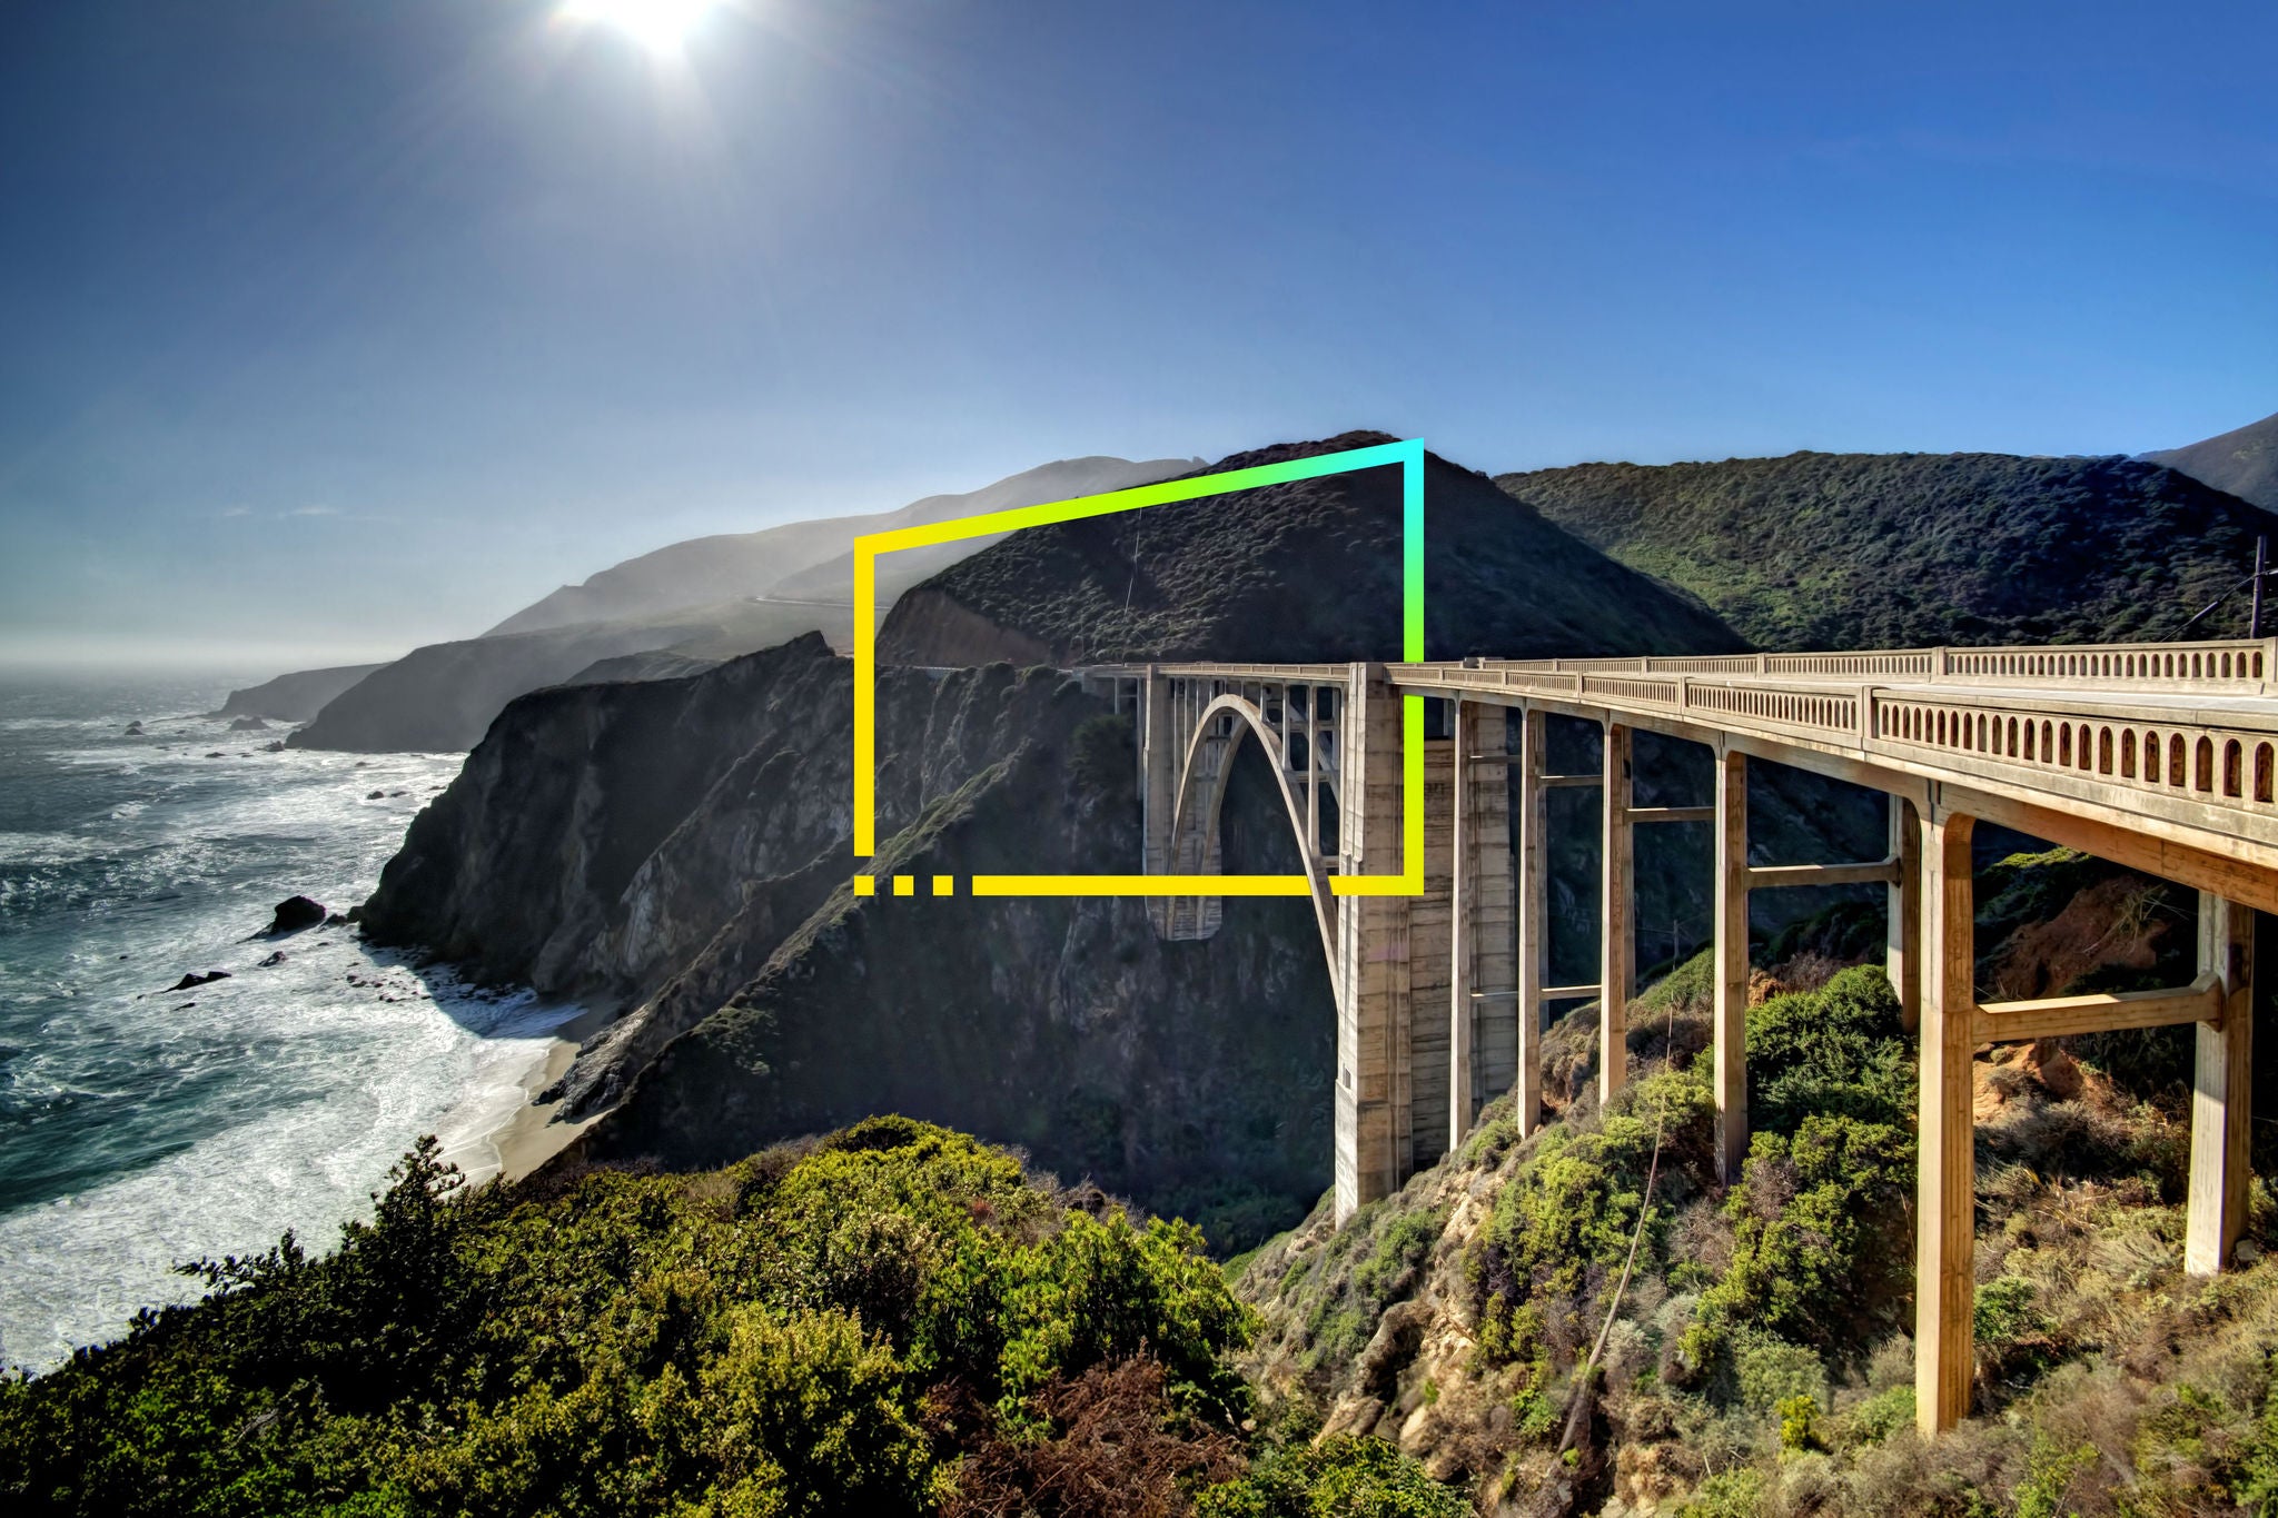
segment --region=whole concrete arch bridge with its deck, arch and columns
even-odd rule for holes
[[[1540,1029],[1599,1006],[1599,1095],[1624,1079],[1638,826],[1715,831],[1718,1168],[1747,1154],[1747,897],[1888,888],[1888,970],[1920,1040],[1916,1388],[1927,1429],[1968,1413],[1977,1045],[2196,1024],[2185,1270],[2230,1263],[2246,1220],[2253,915],[2278,913],[2278,640],[2039,649],[1465,660],[1460,665],[1109,665],[1084,678],[1139,721],[1148,874],[1216,874],[1219,808],[1242,742],[1264,749],[1305,858],[1337,992],[1339,1222],[1458,1145],[1517,1092],[1540,1127]],[[1401,703],[1444,703],[1424,740],[1421,894],[1339,894],[1403,869]],[[1549,774],[1554,717],[1604,733],[1595,774]],[[1715,758],[1704,806],[1640,808],[1631,735]],[[1747,863],[1747,765],[1884,792],[1888,853]],[[1515,785],[1506,776],[1515,772]],[[1604,792],[1599,979],[1544,985],[1544,794]],[[1517,858],[1510,808],[1519,808]],[[2201,892],[2198,976],[2157,992],[1980,1004],[1970,828],[2084,849]],[[1155,901],[1166,938],[1210,938],[1216,897]]]

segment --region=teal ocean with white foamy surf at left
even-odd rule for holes
[[[228,687],[0,676],[0,1366],[194,1300],[175,1263],[330,1247],[421,1133],[494,1174],[576,1013],[353,929],[260,938],[371,894],[462,756],[271,753],[280,724],[191,715]]]

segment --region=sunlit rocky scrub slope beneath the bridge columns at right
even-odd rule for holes
[[[2155,899],[2105,908],[2116,963],[2068,985],[2130,960],[2173,981],[2191,931],[2160,922],[2162,888],[2062,851],[1982,876],[1982,979],[2018,974],[2018,935],[2084,883]],[[1879,965],[1806,954],[1759,972],[1752,999],[1736,1186],[1711,1163],[1702,956],[1633,1004],[1611,1106],[1583,1008],[1551,1031],[1563,1111],[1540,1133],[1522,1140],[1499,1102],[1399,1195],[1244,1263],[1269,1411],[1394,1441],[1515,1516],[2278,1511],[2278,1265],[2260,1256],[2278,1218],[2257,1183],[2257,1263],[2180,1272],[2173,1031],[1980,1058],[1977,1416],[1925,1441],[1914,1040]]]

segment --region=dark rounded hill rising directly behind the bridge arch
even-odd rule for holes
[[[1285,442],[1196,473],[1380,442],[1392,437]],[[1515,505],[1488,476],[1435,453],[1424,476],[1428,658],[1743,646],[1720,619]],[[1396,658],[1401,530],[1396,467],[1030,528],[904,594],[877,651],[907,665]],[[1529,594],[1508,594],[1515,585]]]

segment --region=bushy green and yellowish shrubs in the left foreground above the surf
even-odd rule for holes
[[[1385,1447],[1276,1454],[1196,1231],[970,1138],[474,1195],[433,1154],[333,1254],[207,1261],[200,1304],[0,1381],[9,1511],[1460,1511]]]

